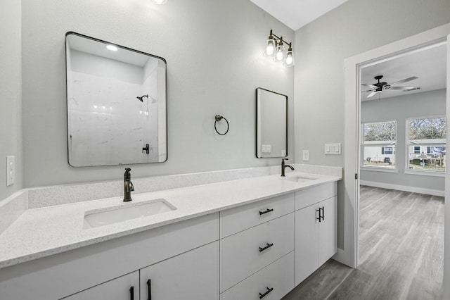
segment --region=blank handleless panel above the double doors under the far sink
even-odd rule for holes
[[[336,182],[310,187],[309,189],[302,189],[295,192],[295,211],[298,209],[316,204],[322,200],[328,199],[338,194]]]

